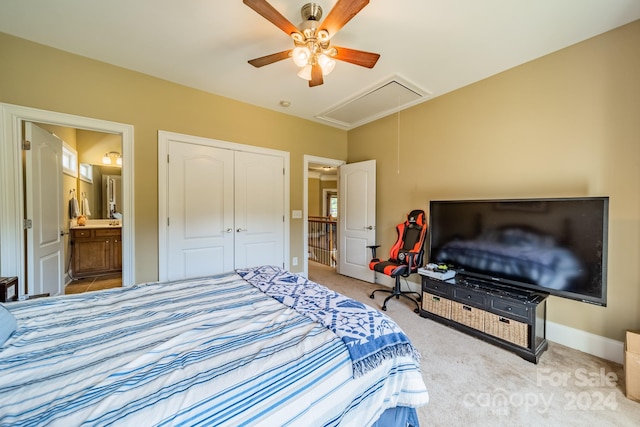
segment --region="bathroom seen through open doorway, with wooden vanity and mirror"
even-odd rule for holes
[[[64,293],[122,286],[122,135],[34,124],[63,143]]]

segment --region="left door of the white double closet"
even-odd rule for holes
[[[231,150],[169,142],[166,279],[233,270],[233,157]]]

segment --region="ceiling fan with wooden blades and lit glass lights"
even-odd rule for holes
[[[293,49],[250,60],[249,64],[254,67],[263,67],[291,57],[300,67],[298,76],[308,80],[309,87],[313,87],[324,83],[323,76],[333,70],[336,59],[373,68],[380,58],[377,53],[331,45],[331,38],[363,9],[369,0],[338,0],[322,23],[322,8],[316,3],[307,3],[300,11],[303,22],[299,27],[293,25],[266,0],[243,2],[287,33],[294,44]]]

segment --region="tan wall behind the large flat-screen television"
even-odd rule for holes
[[[432,199],[610,196],[608,306],[552,297],[548,319],[640,328],[639,49],[636,21],[350,131],[348,161],[377,159],[379,243]]]

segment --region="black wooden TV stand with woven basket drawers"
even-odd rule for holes
[[[461,275],[449,280],[423,275],[420,316],[538,363],[548,346],[547,296]]]

